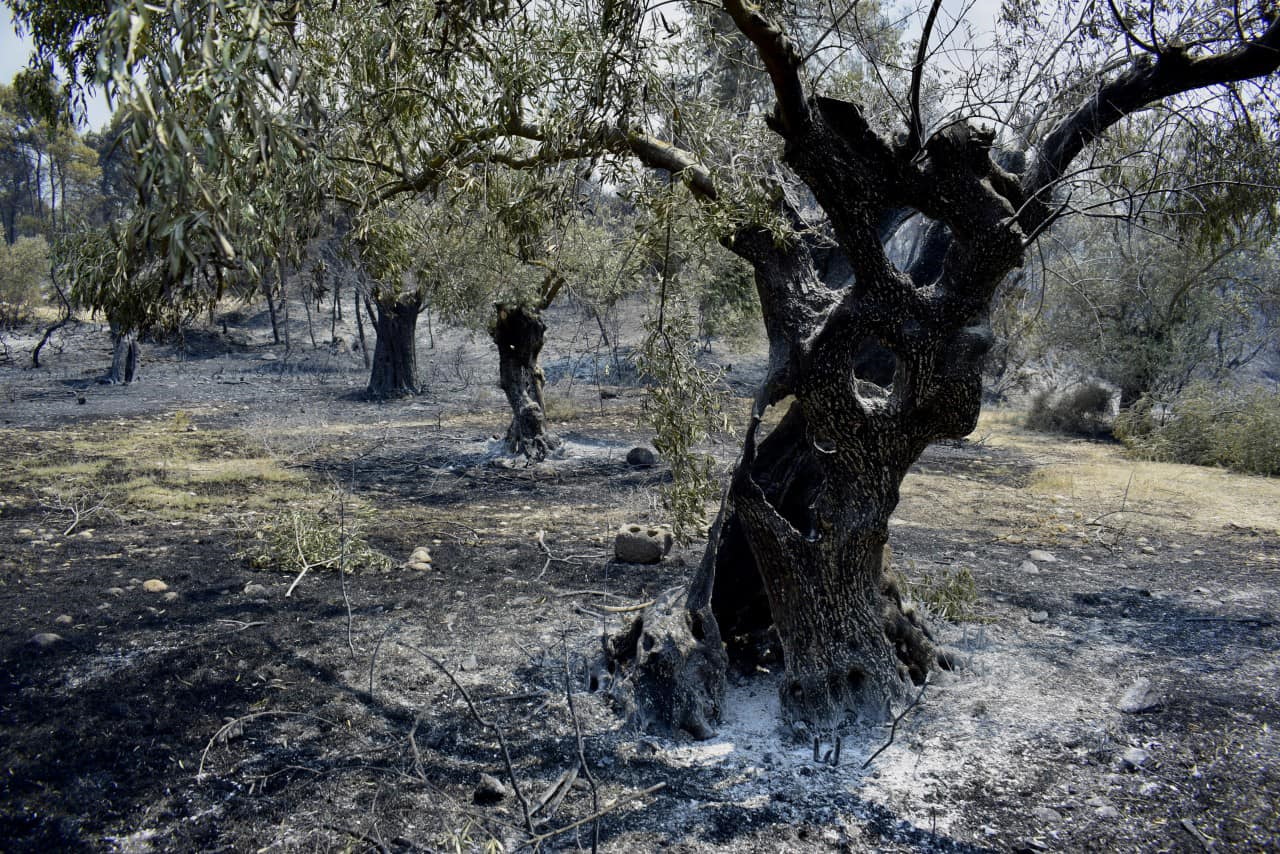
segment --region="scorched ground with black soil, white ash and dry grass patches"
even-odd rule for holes
[[[700,544],[659,566],[608,560],[617,525],[662,521],[667,474],[626,466],[646,438],[639,397],[577,379],[579,339],[548,353],[570,365],[552,387],[570,455],[525,466],[494,449],[483,339],[436,330],[429,393],[376,405],[358,397],[358,355],[284,356],[255,334],[152,346],[131,388],[93,383],[105,341],[91,326],[46,369],[0,365],[3,850],[564,850],[593,832],[617,851],[1280,840],[1274,481],[1221,475],[1236,501],[1222,513],[1215,495],[1190,510],[1139,497],[1132,474],[1100,502],[1061,472],[1087,456],[1129,465],[1115,449],[998,423],[931,448],[904,488],[895,562],[911,579],[973,576],[968,620],[934,621],[965,667],[892,740],[841,734],[832,767],[776,730],[768,675],[735,677],[704,743],[637,732],[589,690],[602,629],[678,585]],[[759,364],[735,361],[737,384]],[[713,451],[732,462],[731,439]],[[241,553],[302,507],[358,521],[397,562],[428,547],[431,568],[317,568],[285,597],[296,572]],[[1028,566],[1033,549],[1053,560]],[[1153,705],[1124,713],[1139,679]],[[517,796],[474,803],[484,773],[508,787],[513,773],[536,803],[580,750],[590,780],[532,834]]]

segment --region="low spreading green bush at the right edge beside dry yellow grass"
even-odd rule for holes
[[[1116,417],[1114,430],[1144,460],[1280,475],[1280,396],[1270,389],[1193,383],[1167,411],[1142,398]]]

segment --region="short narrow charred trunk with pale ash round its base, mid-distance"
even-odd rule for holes
[[[489,334],[498,344],[498,384],[511,405],[507,449],[530,460],[544,460],[561,444],[559,437],[547,429],[544,378],[538,365],[547,324],[534,309],[499,302],[494,306]]]

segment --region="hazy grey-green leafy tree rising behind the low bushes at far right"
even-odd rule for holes
[[[1114,220],[1055,237],[1070,243],[1042,273],[1038,343],[1116,385],[1121,408],[1229,379],[1272,343],[1280,270],[1257,227],[1211,245]]]

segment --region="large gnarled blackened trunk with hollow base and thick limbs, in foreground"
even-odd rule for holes
[[[1280,23],[1221,55],[1192,58],[1171,46],[1134,60],[1065,115],[1015,173],[992,157],[989,131],[960,123],[925,136],[923,50],[908,133],[891,142],[856,105],[808,93],[800,52],[758,10],[742,0],[724,6],[763,60],[777,97],[771,127],[824,220],[806,222],[780,197],[794,229],[783,245],[755,227],[727,241],[755,269],[767,379],[689,589],[613,638],[609,657],[641,720],[704,736],[723,699],[726,649],[748,649],[773,631],[785,663],[783,714],[796,729],[883,720],[909,685],[947,663],[886,574],[888,519],[924,448],[977,424],[992,343],[988,306],[1059,213],[1055,184],[1125,115],[1180,92],[1275,73]],[[705,169],[650,147],[631,142],[650,165],[684,170],[695,192],[714,197]],[[925,228],[900,269],[883,232],[904,209]],[[845,287],[818,275],[818,247],[829,241],[852,273]],[[860,367],[868,341],[892,353],[891,375]],[[782,403],[786,415],[762,437],[765,411]]]

